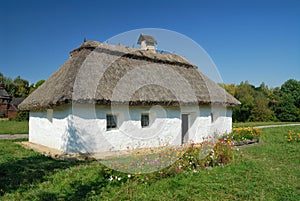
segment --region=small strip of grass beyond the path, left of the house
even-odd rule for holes
[[[0,121],[0,134],[28,134],[28,121]]]

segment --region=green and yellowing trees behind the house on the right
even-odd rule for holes
[[[236,122],[300,121],[300,81],[290,79],[271,89],[265,83],[255,87],[247,81],[221,86],[241,102],[233,108]]]

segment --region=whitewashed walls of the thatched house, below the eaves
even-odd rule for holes
[[[106,114],[117,115],[117,129],[106,130]],[[141,113],[150,126],[141,127]],[[222,107],[117,107],[73,105],[30,112],[29,141],[68,153],[85,153],[181,144],[181,114],[189,115],[189,141],[231,131],[231,110]],[[214,121],[211,121],[211,114]]]

